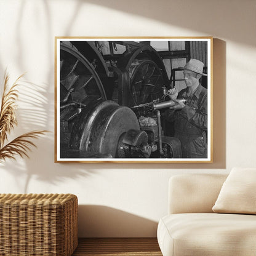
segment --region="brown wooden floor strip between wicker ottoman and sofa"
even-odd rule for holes
[[[72,256],[162,256],[156,238],[79,238]]]

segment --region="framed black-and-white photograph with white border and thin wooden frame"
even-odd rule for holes
[[[55,162],[212,162],[212,37],[56,37]]]

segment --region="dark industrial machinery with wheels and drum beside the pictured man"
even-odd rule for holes
[[[158,52],[141,42],[60,43],[61,158],[182,158],[162,131],[169,79]],[[180,99],[182,100],[182,99]]]

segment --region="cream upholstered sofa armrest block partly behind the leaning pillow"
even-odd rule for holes
[[[213,212],[227,174],[185,174],[169,180],[169,214]]]

